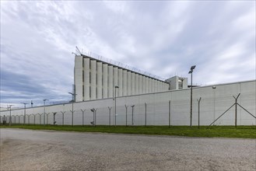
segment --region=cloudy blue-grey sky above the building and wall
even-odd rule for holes
[[[199,86],[255,79],[255,1],[1,1],[1,107],[68,101],[75,47]],[[193,84],[194,84],[193,83]]]

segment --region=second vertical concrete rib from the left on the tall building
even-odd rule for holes
[[[84,82],[83,82],[83,99],[89,100],[89,58],[83,58],[83,71],[84,71]]]

